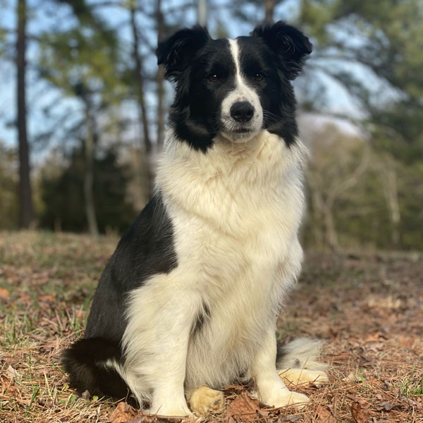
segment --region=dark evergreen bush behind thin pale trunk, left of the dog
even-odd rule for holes
[[[71,232],[87,231],[84,209],[84,161],[80,147],[73,149],[68,166],[61,171],[42,173],[40,190],[44,208],[39,226],[50,230]],[[94,204],[99,231],[124,231],[136,212],[126,198],[129,172],[118,164],[116,151],[107,150],[94,159]]]

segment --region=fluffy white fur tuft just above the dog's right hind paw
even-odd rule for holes
[[[276,369],[326,369],[327,364],[319,362],[321,345],[317,339],[298,338],[278,346]]]

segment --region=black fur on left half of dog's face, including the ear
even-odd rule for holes
[[[235,87],[228,40],[212,39],[202,27],[185,28],[159,44],[157,58],[176,82],[169,123],[180,140],[206,152],[221,129],[221,103]],[[214,73],[226,76],[225,83],[210,82]]]

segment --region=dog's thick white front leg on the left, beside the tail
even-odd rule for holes
[[[184,395],[185,363],[197,298],[186,290],[162,289],[159,277],[154,282],[133,294],[130,303],[125,379],[140,402],[149,398],[150,413],[190,415]]]

